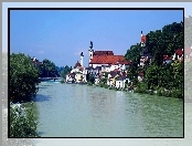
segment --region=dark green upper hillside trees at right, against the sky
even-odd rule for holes
[[[177,49],[184,48],[183,22],[173,22],[164,25],[162,30],[150,31],[146,38],[146,46],[140,46],[139,43],[131,45],[125,58],[139,64],[140,55],[147,52],[153,58],[152,62],[160,66],[164,54],[172,55]]]

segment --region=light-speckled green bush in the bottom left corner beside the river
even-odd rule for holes
[[[40,137],[32,108],[10,106],[10,137]]]

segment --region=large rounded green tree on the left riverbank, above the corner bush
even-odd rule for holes
[[[11,100],[28,101],[38,92],[38,71],[31,58],[22,53],[10,55],[10,97]]]

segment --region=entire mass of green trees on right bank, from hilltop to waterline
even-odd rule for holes
[[[192,19],[190,17],[188,25],[191,24]],[[136,92],[146,93],[146,90],[156,90],[159,95],[183,97],[183,62],[174,61],[172,64],[163,64],[163,55],[171,56],[177,49],[184,48],[183,27],[183,22],[173,22],[164,25],[161,30],[150,31],[146,35],[146,46],[140,46],[137,43],[127,51],[125,58],[132,61],[128,69],[128,77],[134,82],[134,85],[137,85]],[[150,55],[152,62],[150,64],[145,62],[145,67],[139,67],[140,56],[145,54]],[[145,74],[145,83],[137,82],[139,72]],[[164,88],[168,91],[164,91]],[[153,92],[148,93],[153,94]]]

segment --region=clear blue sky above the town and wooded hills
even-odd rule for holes
[[[89,42],[94,50],[125,55],[140,41],[140,32],[181,22],[177,10],[11,10],[10,50],[57,66],[74,66],[83,51],[88,65]]]

